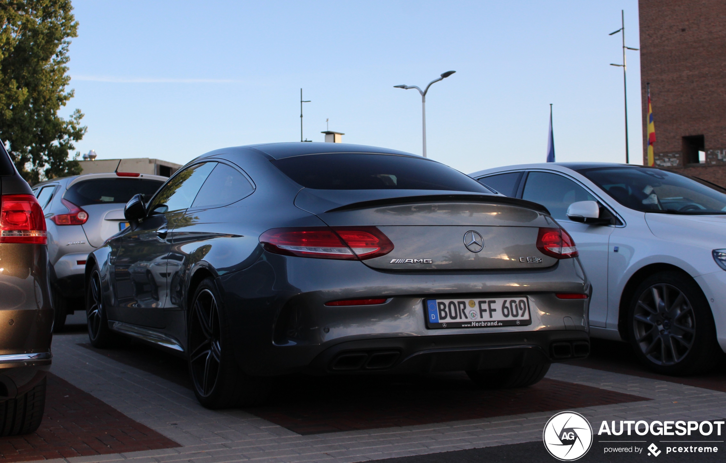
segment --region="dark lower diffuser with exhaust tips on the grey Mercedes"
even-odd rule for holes
[[[330,347],[306,368],[311,374],[431,373],[494,370],[584,358],[582,331],[477,333],[349,341]]]

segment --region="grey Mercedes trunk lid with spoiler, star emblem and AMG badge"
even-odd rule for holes
[[[537,235],[540,227],[558,225],[547,209],[530,201],[461,192],[304,188],[295,205],[332,227],[378,227],[393,251],[362,262],[380,270],[527,270],[557,262],[537,249]]]

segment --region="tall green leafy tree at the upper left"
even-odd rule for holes
[[[86,133],[79,109],[58,111],[73,98],[68,46],[78,22],[70,0],[0,0],[0,139],[9,143],[17,170],[28,182],[76,175],[69,159]]]

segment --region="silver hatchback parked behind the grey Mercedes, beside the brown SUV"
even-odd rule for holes
[[[83,270],[89,252],[128,225],[123,206],[136,193],[151,197],[159,175],[110,172],[55,178],[33,186],[48,229],[54,330],[75,306],[83,307]]]

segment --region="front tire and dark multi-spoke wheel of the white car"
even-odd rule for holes
[[[711,306],[698,283],[682,272],[660,272],[640,283],[627,330],[638,360],[663,375],[708,370],[722,354]]]

